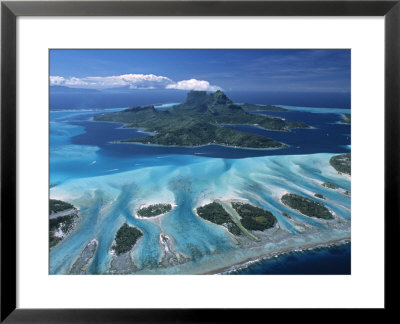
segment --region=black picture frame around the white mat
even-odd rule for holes
[[[399,235],[400,0],[392,1],[2,1],[1,3],[1,322],[234,322],[265,310],[16,308],[16,19],[19,16],[384,16],[385,310],[396,308]],[[367,283],[366,283],[367,284]],[[256,316],[256,317],[253,317]]]

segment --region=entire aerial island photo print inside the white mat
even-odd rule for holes
[[[351,274],[349,49],[49,56],[50,275]]]

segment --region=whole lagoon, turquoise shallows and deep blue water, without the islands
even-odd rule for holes
[[[338,123],[342,111],[274,113],[288,120],[302,117],[313,126],[310,130],[244,129],[290,145],[281,150],[117,144],[113,141],[148,134],[91,121],[99,113],[104,110],[50,111],[50,197],[74,204],[80,215],[76,230],[50,251],[50,274],[69,273],[93,239],[98,246],[87,273],[118,273],[110,271],[115,258],[110,247],[124,222],[143,233],[131,253],[135,274],[215,273],[266,255],[350,240],[350,197],[343,194],[351,190],[350,178],[329,164],[330,157],[350,149],[350,126]],[[327,181],[341,190],[323,187]],[[311,199],[321,193],[335,219],[313,219],[285,207],[280,202],[285,192]],[[215,199],[265,208],[278,225],[254,232],[260,242],[235,237],[195,214],[198,206]],[[140,206],[165,202],[174,204],[171,212],[154,219],[135,217]],[[166,255],[161,234],[169,238],[179,263],[160,265]]]

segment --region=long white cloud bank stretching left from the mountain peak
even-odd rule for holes
[[[182,80],[175,82],[168,77],[155,74],[122,74],[105,77],[89,76],[83,78],[50,76],[51,85],[62,85],[72,88],[105,89],[129,87],[130,89],[177,89],[216,91],[221,88],[204,80]]]

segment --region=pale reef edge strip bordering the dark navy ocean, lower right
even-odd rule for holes
[[[263,261],[270,260],[272,258],[277,258],[281,255],[293,253],[293,252],[302,252],[305,250],[314,250],[318,248],[329,248],[332,246],[340,246],[351,243],[351,237],[343,237],[340,239],[334,239],[327,242],[320,242],[320,243],[309,243],[299,247],[287,247],[278,249],[276,251],[271,251],[269,253],[260,255],[257,258],[248,258],[240,263],[232,264],[230,266],[218,268],[215,270],[207,271],[205,273],[200,273],[200,275],[226,275],[231,274],[232,272],[244,270],[250,267],[253,264],[260,263]]]

